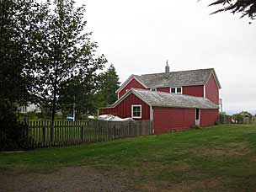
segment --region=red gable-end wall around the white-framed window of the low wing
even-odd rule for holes
[[[115,108],[99,109],[99,115],[117,115],[120,118],[131,117],[131,105],[141,104],[141,119],[135,120],[149,120],[150,119],[150,107],[141,99],[138,99],[135,94],[131,93]]]

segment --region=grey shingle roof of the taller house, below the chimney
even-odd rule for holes
[[[162,72],[141,76],[136,75],[135,77],[148,88],[178,87],[204,85],[213,71],[213,68],[209,68],[182,72],[169,72],[168,75],[165,72]]]

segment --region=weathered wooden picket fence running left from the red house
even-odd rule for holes
[[[147,136],[153,131],[153,121],[66,121],[56,120],[51,132],[51,120],[29,120],[22,135],[29,138],[28,147],[54,147],[114,139]],[[53,133],[53,141],[51,141]],[[3,138],[3,131],[0,131]]]

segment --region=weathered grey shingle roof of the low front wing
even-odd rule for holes
[[[199,108],[199,109],[218,109],[219,107],[212,103],[209,99],[202,97],[195,97],[183,94],[173,94],[164,92],[154,92],[145,89],[131,88],[125,93],[115,104],[109,106],[114,108],[122,102],[131,93],[144,101],[149,106],[153,107],[173,107],[173,108]]]

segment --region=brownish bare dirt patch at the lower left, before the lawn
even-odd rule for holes
[[[0,173],[0,192],[136,191],[131,180],[115,173],[98,173],[92,168],[61,168],[54,173]]]

